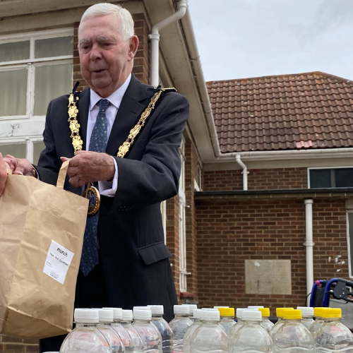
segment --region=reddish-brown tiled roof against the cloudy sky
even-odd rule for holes
[[[311,72],[207,87],[222,153],[353,146],[353,81]]]

